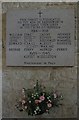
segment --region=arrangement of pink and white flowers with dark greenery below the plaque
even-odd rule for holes
[[[17,102],[19,111],[26,111],[28,115],[49,113],[50,108],[59,106],[62,95],[56,92],[47,92],[45,87],[38,84],[33,89],[22,89],[22,98]]]

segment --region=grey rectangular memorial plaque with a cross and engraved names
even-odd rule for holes
[[[73,66],[74,10],[13,10],[6,15],[7,66]]]

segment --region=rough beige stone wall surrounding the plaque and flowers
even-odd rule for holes
[[[15,104],[19,98],[20,90],[31,88],[38,79],[48,90],[55,89],[63,94],[63,105],[51,109],[50,114],[43,114],[39,118],[73,118],[77,117],[77,41],[75,42],[75,65],[74,67],[7,67],[6,66],[6,13],[10,9],[39,9],[52,7],[74,8],[76,15],[76,4],[72,3],[3,3],[3,118],[31,118],[27,113],[20,113]],[[75,16],[74,16],[75,17]],[[75,31],[76,32],[76,31]],[[76,38],[76,35],[75,37]],[[33,117],[32,117],[33,118]]]

